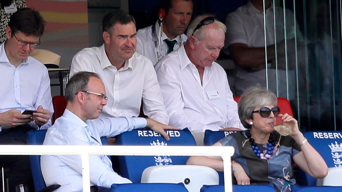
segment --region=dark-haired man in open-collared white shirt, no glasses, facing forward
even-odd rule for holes
[[[168,124],[169,117],[151,61],[135,52],[135,20],[127,12],[114,10],[102,21],[104,44],[78,52],[71,63],[70,77],[78,71],[97,73],[108,94],[101,117],[137,117],[144,114]]]

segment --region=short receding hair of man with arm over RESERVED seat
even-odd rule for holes
[[[80,71],[74,74],[65,87],[66,101],[73,101],[76,93],[87,90],[88,82],[91,77],[101,79],[98,74],[89,71]]]

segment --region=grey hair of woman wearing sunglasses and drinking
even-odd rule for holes
[[[249,87],[240,97],[238,102],[238,114],[240,121],[247,129],[251,128],[245,120],[253,119],[252,112],[257,107],[266,105],[277,106],[277,96],[264,87]]]

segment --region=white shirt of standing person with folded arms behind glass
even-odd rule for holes
[[[294,15],[290,10],[286,10],[286,39],[295,36]],[[279,43],[285,39],[284,9],[273,6],[266,9],[266,46]],[[276,22],[274,24],[274,17]],[[264,14],[248,1],[246,5],[239,7],[236,11],[229,13],[225,22],[227,32],[225,36],[225,46],[233,43],[244,43],[248,47],[265,47],[264,39]],[[299,27],[297,27],[299,31]],[[275,32],[276,31],[276,40]],[[300,32],[297,32],[300,36]],[[279,49],[279,48],[278,48]],[[266,87],[266,69],[251,71],[243,67],[236,66],[235,91],[240,96],[248,87],[260,84]],[[289,99],[294,98],[295,72],[294,70],[267,69],[268,87],[279,97],[287,97],[286,87],[289,85]],[[286,78],[288,76],[288,78]],[[277,81],[278,80],[278,84]],[[288,82],[287,82],[288,80]],[[278,88],[278,89],[277,89]]]

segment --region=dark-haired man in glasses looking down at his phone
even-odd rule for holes
[[[0,144],[25,145],[28,131],[51,126],[48,70],[29,56],[40,43],[44,25],[38,11],[24,8],[11,16],[6,27],[7,40],[0,45]],[[11,192],[19,184],[32,189],[28,156],[1,156],[0,165],[11,168]]]

